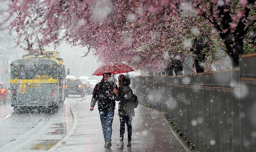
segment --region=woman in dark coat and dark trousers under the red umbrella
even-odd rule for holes
[[[117,146],[124,147],[124,133],[125,133],[125,124],[127,126],[128,132],[128,144],[127,147],[131,147],[131,120],[134,114],[134,95],[129,87],[130,78],[123,74],[120,74],[118,77],[119,88],[114,88],[114,93],[117,95],[116,100],[119,101],[118,115],[120,119],[120,142]]]

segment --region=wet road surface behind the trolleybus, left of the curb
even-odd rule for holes
[[[0,151],[46,151],[52,148],[70,130],[73,123],[70,106],[77,99],[66,98],[54,114],[36,110],[17,114],[11,106],[2,106]]]

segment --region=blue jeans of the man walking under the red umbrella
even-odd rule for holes
[[[103,136],[105,143],[107,141],[111,142],[112,136],[112,122],[114,118],[115,110],[110,111],[99,111],[100,113],[100,122],[102,126]]]

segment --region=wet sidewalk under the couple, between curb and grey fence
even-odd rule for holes
[[[76,102],[71,107],[74,116],[73,126],[68,135],[49,151],[90,151],[90,152],[186,152],[183,145],[173,135],[159,111],[138,106],[132,119],[132,148],[128,149],[127,128],[125,128],[124,149],[117,147],[119,142],[119,117],[117,108],[113,120],[112,147],[104,148],[103,133],[98,108],[90,112],[90,96]],[[118,102],[116,107],[118,107]]]

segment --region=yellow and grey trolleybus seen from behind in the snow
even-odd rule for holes
[[[69,73],[69,70],[68,70]],[[58,110],[65,100],[65,65],[58,52],[43,51],[11,63],[10,102],[23,108]]]

